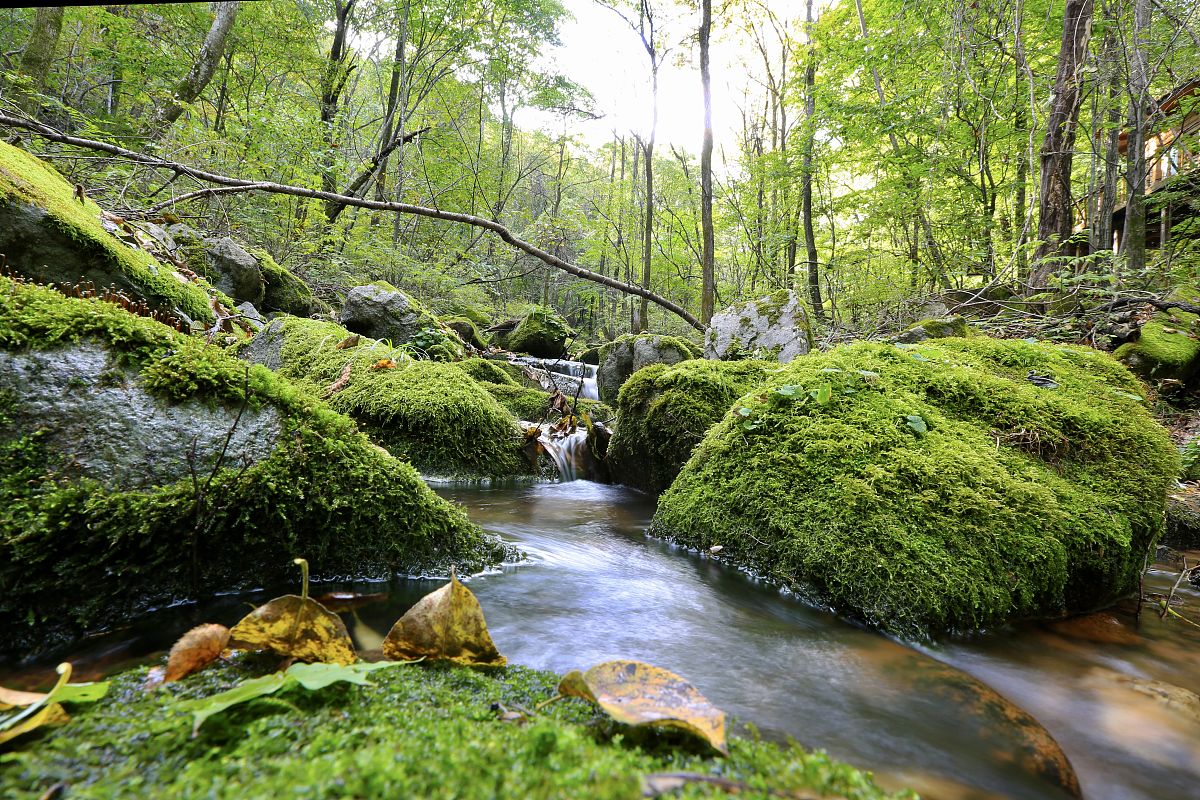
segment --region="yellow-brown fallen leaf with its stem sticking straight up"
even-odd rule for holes
[[[352,664],[354,644],[342,619],[308,597],[308,563],[296,559],[304,594],[283,595],[246,614],[229,631],[229,646],[270,650],[299,661]]]

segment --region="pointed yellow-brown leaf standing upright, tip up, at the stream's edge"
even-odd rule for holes
[[[487,632],[484,609],[470,589],[450,571],[450,583],[432,591],[408,609],[383,640],[383,655],[391,661],[428,658],[461,664],[503,667]]]

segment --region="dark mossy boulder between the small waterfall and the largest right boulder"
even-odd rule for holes
[[[625,486],[659,494],[734,401],[778,369],[768,361],[683,361],[638,369],[617,401],[606,461]]]

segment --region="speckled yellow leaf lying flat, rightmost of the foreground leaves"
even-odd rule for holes
[[[683,678],[661,667],[641,661],[606,661],[586,673],[572,669],[563,676],[558,693],[590,700],[624,724],[686,730],[728,754],[725,711],[704,699]]]

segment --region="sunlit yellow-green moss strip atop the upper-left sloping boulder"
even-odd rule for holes
[[[212,321],[210,294],[229,307],[234,305],[211,287],[188,283],[145,251],[119,241],[101,225],[100,206],[90,199],[77,201],[74,187],[53,167],[5,143],[0,143],[0,205],[30,203],[46,210],[80,252],[103,261],[109,273],[124,276],[126,285],[120,288],[132,289],[152,306],[179,308],[192,319]]]

